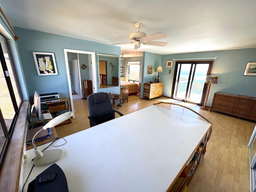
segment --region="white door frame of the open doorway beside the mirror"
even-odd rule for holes
[[[71,89],[71,82],[70,82],[70,71],[68,66],[68,52],[70,53],[81,53],[81,54],[88,54],[91,55],[91,74],[92,74],[92,92],[97,92],[97,81],[96,81],[96,61],[95,61],[95,52],[88,52],[88,51],[81,51],[81,50],[72,50],[72,49],[64,49],[65,55],[65,62],[66,62],[66,70],[67,70],[67,77],[68,77],[68,89],[69,89],[69,96],[70,96],[70,105],[71,110],[73,112],[73,118],[75,117],[74,113],[74,104],[72,100],[72,89]]]

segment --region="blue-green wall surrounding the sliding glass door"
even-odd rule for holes
[[[218,76],[218,84],[211,86],[207,106],[211,106],[214,92],[217,91],[256,97],[256,76],[243,75],[246,63],[256,62],[256,48],[163,55],[164,72],[160,74],[160,79],[164,82],[163,95],[171,97],[175,69],[175,61],[172,68],[166,68],[167,61],[186,58],[214,58],[216,56],[211,74]],[[168,74],[169,69],[172,70],[171,74]]]

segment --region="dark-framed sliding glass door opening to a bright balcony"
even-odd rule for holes
[[[202,105],[206,89],[204,81],[211,68],[212,61],[176,62],[172,98]]]

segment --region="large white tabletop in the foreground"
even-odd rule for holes
[[[70,192],[165,192],[210,127],[206,121],[153,105],[66,136],[67,143],[58,147],[64,154],[56,164]],[[24,181],[33,149],[27,156]],[[25,189],[49,166],[34,166]]]

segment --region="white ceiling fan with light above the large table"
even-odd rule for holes
[[[167,45],[167,42],[153,41],[153,40],[165,38],[166,34],[156,33],[156,34],[152,34],[150,36],[146,36],[146,33],[140,32],[140,28],[142,27],[141,23],[136,23],[134,25],[137,28],[137,32],[131,33],[130,38],[114,35],[114,36],[117,36],[117,37],[122,37],[122,38],[128,39],[128,40],[130,40],[130,42],[116,43],[116,44],[111,44],[111,45],[134,43],[134,49],[140,48],[141,43],[144,44],[144,45],[155,45],[155,46],[166,46]]]

